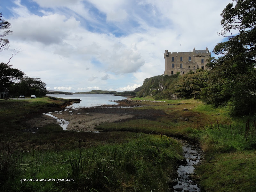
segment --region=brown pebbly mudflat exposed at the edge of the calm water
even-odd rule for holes
[[[28,127],[29,132],[35,132],[38,128],[47,124],[58,124],[58,122],[51,116],[47,116],[43,113],[50,113],[51,115],[64,119],[69,122],[67,130],[70,131],[99,131],[94,127],[105,122],[120,122],[132,119],[148,119],[156,120],[160,116],[166,114],[162,110],[146,109],[136,110],[136,107],[140,107],[141,103],[131,100],[116,101],[118,105],[104,105],[102,107],[93,108],[79,108],[71,109],[67,108],[63,110],[53,108],[55,111],[40,111],[42,113],[36,116],[30,116],[30,118],[24,121],[24,126]]]

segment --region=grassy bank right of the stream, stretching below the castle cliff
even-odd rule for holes
[[[198,142],[205,152],[204,162],[196,169],[203,191],[255,191],[255,116],[232,119],[225,108],[213,108],[200,100],[161,101],[166,103],[152,102],[151,106],[134,108],[164,110],[166,115],[154,121],[138,119],[101,124],[98,128],[163,134]]]

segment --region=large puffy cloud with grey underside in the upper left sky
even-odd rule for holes
[[[30,15],[11,19],[13,37],[18,40],[36,41],[43,44],[59,44],[65,41],[74,28],[78,28],[79,21],[74,17],[52,14],[46,16]],[[65,29],[65,30],[63,30]]]

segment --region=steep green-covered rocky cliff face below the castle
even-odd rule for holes
[[[174,94],[174,84],[177,81],[178,75],[159,75],[147,78],[136,97],[152,96],[154,99],[177,99]]]

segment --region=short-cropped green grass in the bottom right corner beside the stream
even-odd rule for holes
[[[256,152],[214,154],[196,169],[203,191],[256,191]]]

